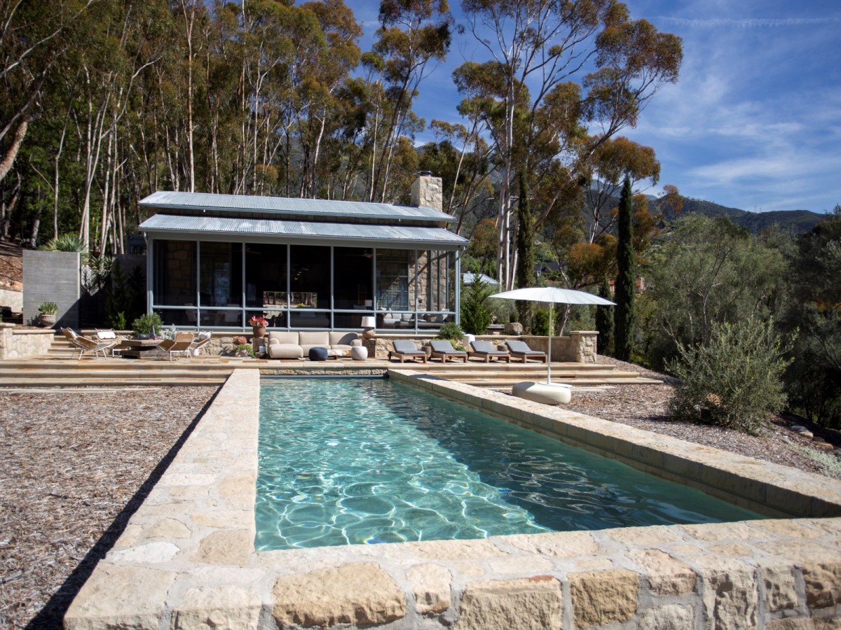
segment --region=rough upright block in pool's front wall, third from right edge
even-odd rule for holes
[[[699,556],[704,615],[713,627],[756,627],[759,589],[748,564],[719,556]]]

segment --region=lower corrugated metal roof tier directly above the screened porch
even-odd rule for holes
[[[285,236],[291,239],[337,239],[352,241],[404,241],[415,244],[467,244],[467,240],[444,228],[412,225],[370,225],[364,223],[320,223],[315,221],[265,218],[193,217],[156,214],[140,224],[144,232],[183,234],[252,234]],[[448,248],[449,249],[449,248]]]

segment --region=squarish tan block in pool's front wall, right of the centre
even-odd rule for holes
[[[627,622],[637,612],[639,574],[627,569],[569,574],[575,627]]]

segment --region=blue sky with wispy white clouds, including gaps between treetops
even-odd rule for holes
[[[362,47],[378,28],[378,0],[346,0]],[[664,87],[636,129],[657,151],[659,186],[744,210],[832,210],[841,203],[841,2],[627,0],[632,18],[680,35],[680,81]],[[463,21],[458,0],[454,17]],[[452,71],[484,60],[456,35],[447,61],[421,84],[415,112],[458,121]],[[419,142],[433,139],[426,131]],[[657,194],[659,186],[645,192]]]

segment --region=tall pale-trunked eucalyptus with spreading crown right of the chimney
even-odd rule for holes
[[[558,138],[558,159],[566,162],[575,181],[579,165],[599,144],[637,116],[659,87],[677,80],[680,39],[660,34],[645,20],[630,20],[627,7],[615,0],[464,0],[469,29],[495,60],[500,71],[502,110],[497,268],[506,288],[512,286],[512,177],[516,171],[516,118],[524,98],[527,124],[553,91],[583,88],[576,108],[579,124],[565,126],[574,134]],[[595,68],[592,71],[590,67]],[[583,75],[583,76],[582,76]],[[582,76],[581,88],[561,86]],[[598,133],[582,139],[584,124]]]

